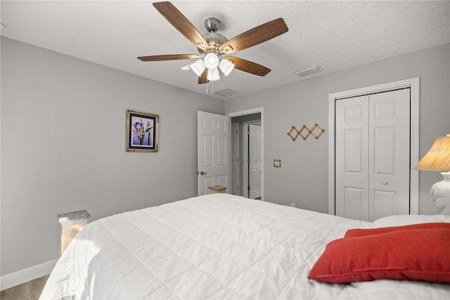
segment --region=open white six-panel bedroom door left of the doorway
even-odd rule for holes
[[[229,192],[229,117],[197,112],[198,196],[221,185]]]

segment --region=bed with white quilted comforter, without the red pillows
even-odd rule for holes
[[[348,230],[415,223],[449,225],[450,216],[368,223],[231,194],[193,197],[86,225],[41,299],[450,299],[449,270],[443,283],[308,279],[327,244]]]

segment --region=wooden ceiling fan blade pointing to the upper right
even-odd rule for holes
[[[270,22],[254,27],[233,37],[233,39],[230,39],[228,42],[221,44],[219,50],[225,54],[232,54],[236,51],[266,42],[269,39],[278,37],[278,35],[283,35],[283,33],[288,32],[288,30],[288,26],[283,18],[271,20]]]

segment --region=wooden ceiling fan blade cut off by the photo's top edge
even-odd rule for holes
[[[181,32],[188,40],[200,49],[208,49],[209,45],[203,35],[192,25],[191,22],[170,2],[155,2],[155,8],[172,24],[176,30]]]

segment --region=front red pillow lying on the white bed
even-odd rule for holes
[[[450,229],[336,239],[328,243],[308,278],[328,283],[378,279],[450,283]]]

